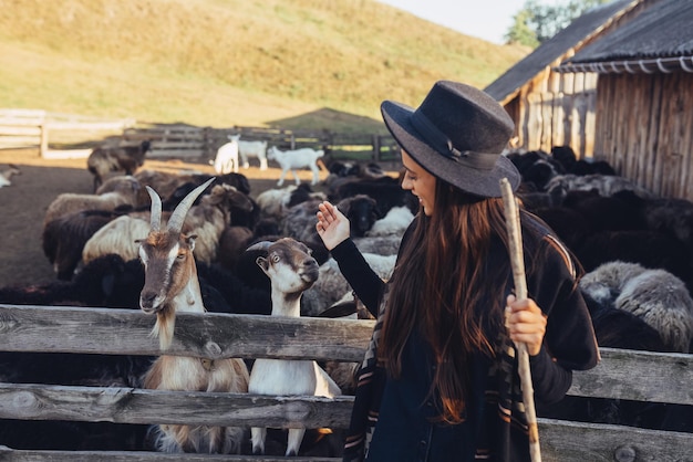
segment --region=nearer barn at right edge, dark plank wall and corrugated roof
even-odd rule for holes
[[[642,9],[558,72],[594,72],[594,156],[662,196],[693,200],[693,1]]]

